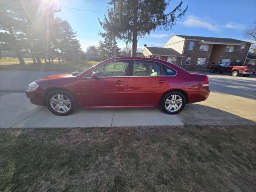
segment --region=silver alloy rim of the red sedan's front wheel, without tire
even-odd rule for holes
[[[70,99],[63,94],[56,94],[50,100],[52,109],[58,113],[66,113],[71,108]]]

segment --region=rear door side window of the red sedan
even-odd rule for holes
[[[161,65],[157,62],[134,61],[132,68],[133,76],[159,76],[161,75]]]

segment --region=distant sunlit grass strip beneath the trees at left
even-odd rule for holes
[[[0,70],[47,70],[47,71],[83,71],[87,68],[98,64],[98,61],[64,61],[58,62],[58,60],[54,60],[54,63],[44,63],[42,60],[42,64],[34,65],[31,62],[27,62],[25,66],[21,66],[19,64],[8,64],[8,63],[0,63]]]

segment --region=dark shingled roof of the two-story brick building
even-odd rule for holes
[[[189,36],[189,35],[176,35],[185,39],[203,40],[210,42],[224,42],[224,43],[251,43],[231,38],[219,38],[219,37],[202,37],[202,36]]]

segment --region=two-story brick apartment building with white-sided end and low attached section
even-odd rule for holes
[[[173,35],[163,48],[145,46],[143,54],[188,70],[207,69],[220,62],[245,64],[251,44],[230,38]]]

